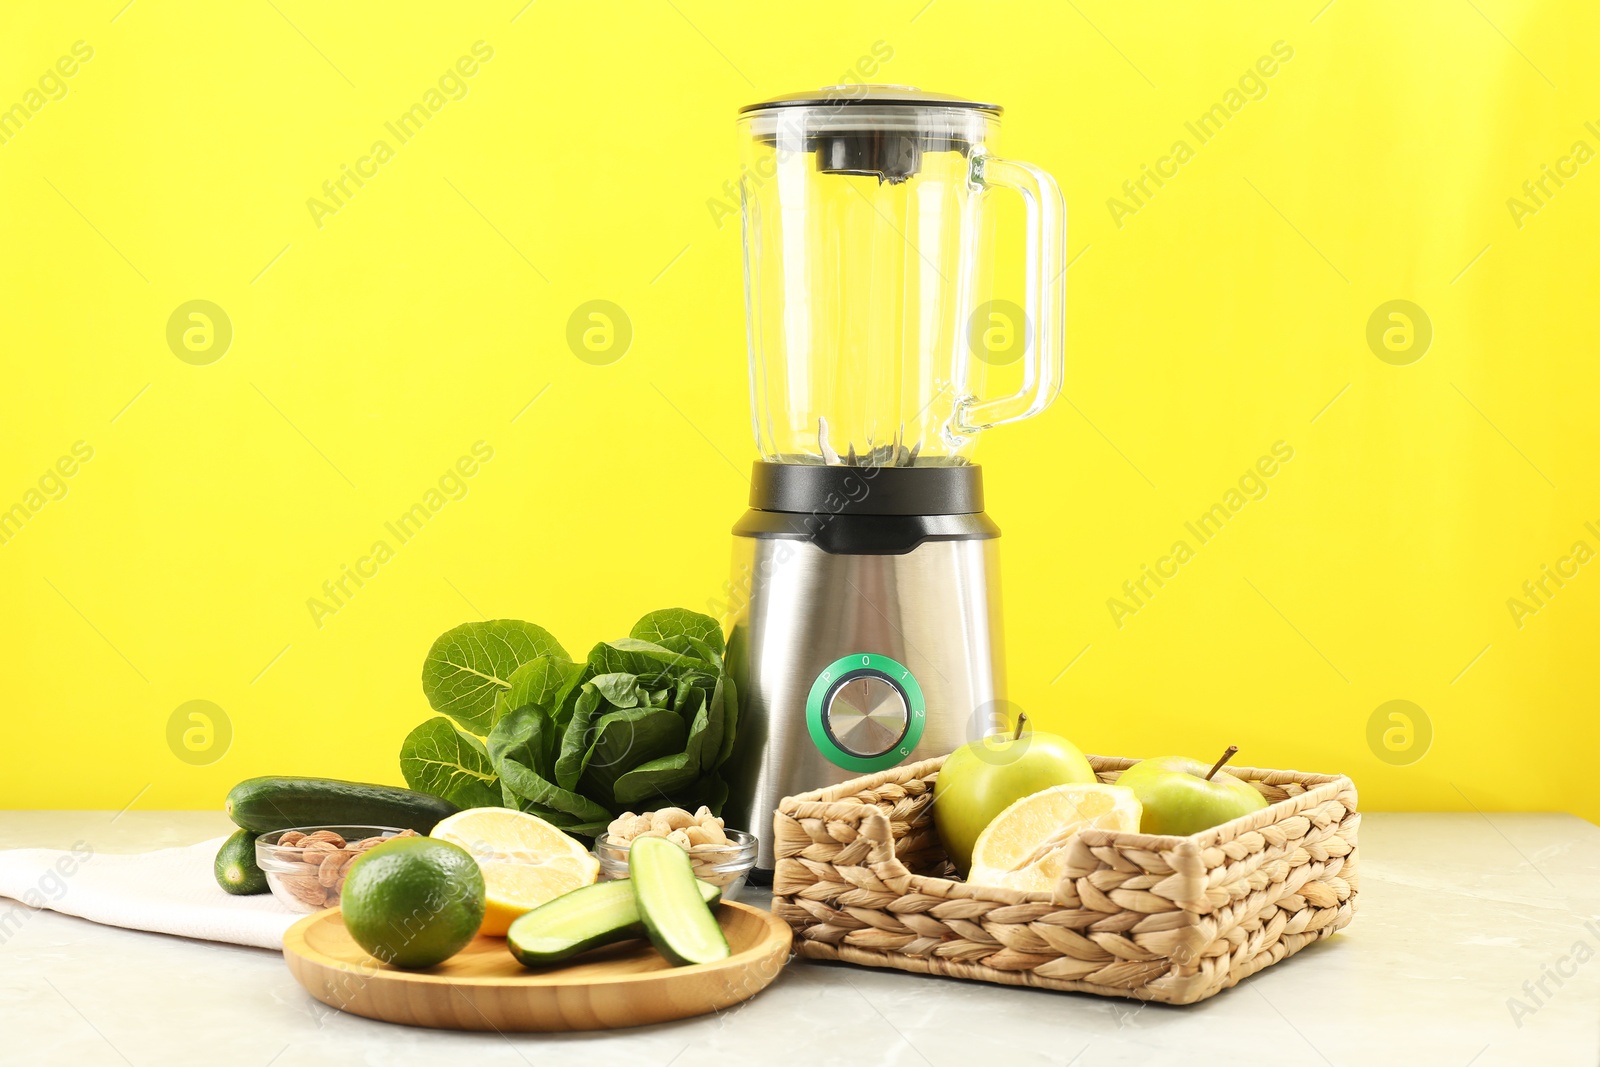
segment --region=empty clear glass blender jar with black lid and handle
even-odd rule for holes
[[[744,107],[741,200],[750,410],[768,462],[970,462],[974,435],[1029,418],[1062,374],[1061,192],[994,155],[1000,109],[906,86],[834,86]],[[1027,211],[1026,307],[995,323],[992,189]],[[1021,387],[986,398],[974,341],[1022,347]]]

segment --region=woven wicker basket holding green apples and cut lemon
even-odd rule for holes
[[[1083,830],[1054,893],[1024,893],[952,878],[941,763],[782,800],[773,912],[800,955],[1189,1005],[1355,915],[1349,777],[1229,768],[1272,803],[1192,837]],[[1115,782],[1136,760],[1090,763]]]

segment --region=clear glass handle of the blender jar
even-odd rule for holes
[[[1067,210],[1061,187],[1032,163],[973,158],[973,184],[1011,189],[1027,208],[1027,307],[1024,307],[1022,387],[1010,397],[966,397],[957,406],[962,432],[976,434],[1003,422],[1038,414],[1061,392],[1066,370],[1066,266]],[[968,342],[970,344],[970,342]]]

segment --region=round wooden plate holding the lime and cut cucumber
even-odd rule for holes
[[[426,971],[366,955],[339,909],[307,915],[283,934],[294,979],[325,1005],[370,1019],[450,1030],[602,1030],[702,1016],[766,989],[789,960],[789,925],[723,901],[717,920],[733,955],[667,966],[643,941],[626,941],[563,966],[530,969],[504,937],[477,937]]]

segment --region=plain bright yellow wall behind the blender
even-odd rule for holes
[[[94,50],[0,144],[0,506],[94,450],[0,545],[0,806],[398,782],[442,630],[525,617],[581,653],[718,595],[754,454],[739,227],[707,206],[734,109],[886,42],[878,80],[1003,102],[1005,154],[1070,210],[1064,398],[978,450],[1013,701],[1090,752],[1344,771],[1370,808],[1600,817],[1600,566],[1520,629],[1506,605],[1600,547],[1600,163],[1520,227],[1506,205],[1600,147],[1594,5],[123,3],[0,27],[0,104]],[[307,200],[478,40],[466,98],[318,229]],[[205,366],[166,344],[192,299],[234,326]],[[566,344],[592,299],[632,322],[608,366]],[[1434,326],[1408,366],[1366,346],[1390,299]],[[1278,440],[1270,493],[1118,629],[1107,598]],[[318,627],[307,600],[474,442],[466,498]],[[234,729],[205,766],[166,742],[192,699]],[[1434,729],[1403,766],[1366,739],[1392,699]]]

